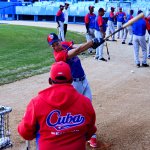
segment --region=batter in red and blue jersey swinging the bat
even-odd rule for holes
[[[47,37],[47,41],[54,50],[55,61],[64,61],[69,64],[73,76],[72,84],[74,88],[92,101],[91,89],[82,68],[81,61],[77,55],[90,47],[94,49],[97,48],[104,41],[94,38],[79,47],[74,47],[72,41],[60,42],[55,33],[50,33]],[[97,147],[96,134],[92,136],[89,142],[91,147]]]

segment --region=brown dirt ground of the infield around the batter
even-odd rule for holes
[[[22,24],[17,21],[7,23]],[[24,25],[31,23],[35,24],[23,22]],[[49,22],[37,24],[52,27],[52,23]],[[85,30],[83,25],[69,25],[69,29],[82,32]],[[92,89],[98,139],[112,144],[111,150],[149,150],[150,67],[136,68],[133,61],[133,47],[122,45],[121,42],[121,40],[108,42],[110,51],[108,62],[96,61],[94,55],[81,56]],[[107,58],[106,48],[104,57]],[[150,64],[150,60],[148,63]],[[17,124],[30,99],[38,91],[49,86],[48,76],[49,73],[45,73],[0,86],[0,104],[13,109],[10,114],[14,145],[12,150],[25,149],[25,141],[19,137],[16,130]],[[34,142],[31,144],[31,149],[34,150]]]

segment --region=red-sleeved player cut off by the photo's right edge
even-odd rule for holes
[[[148,34],[149,34],[149,37],[148,37],[148,59],[150,59],[150,13],[147,15],[147,17],[145,18],[146,20],[146,28],[147,28],[147,31],[148,31]]]

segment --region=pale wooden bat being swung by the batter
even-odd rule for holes
[[[130,26],[131,24],[133,24],[134,22],[136,22],[137,20],[139,20],[140,18],[144,17],[144,13],[140,13],[139,15],[137,15],[136,17],[132,18],[131,20],[129,20],[127,23],[125,23],[120,29],[116,30],[115,32],[113,32],[112,34],[108,35],[107,37],[104,38],[104,41],[106,39],[108,39],[109,37],[111,37],[112,35],[116,34],[117,32],[119,32],[120,30]]]

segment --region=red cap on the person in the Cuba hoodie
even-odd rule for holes
[[[55,62],[51,66],[50,78],[57,83],[67,83],[72,81],[70,66],[63,61]]]

